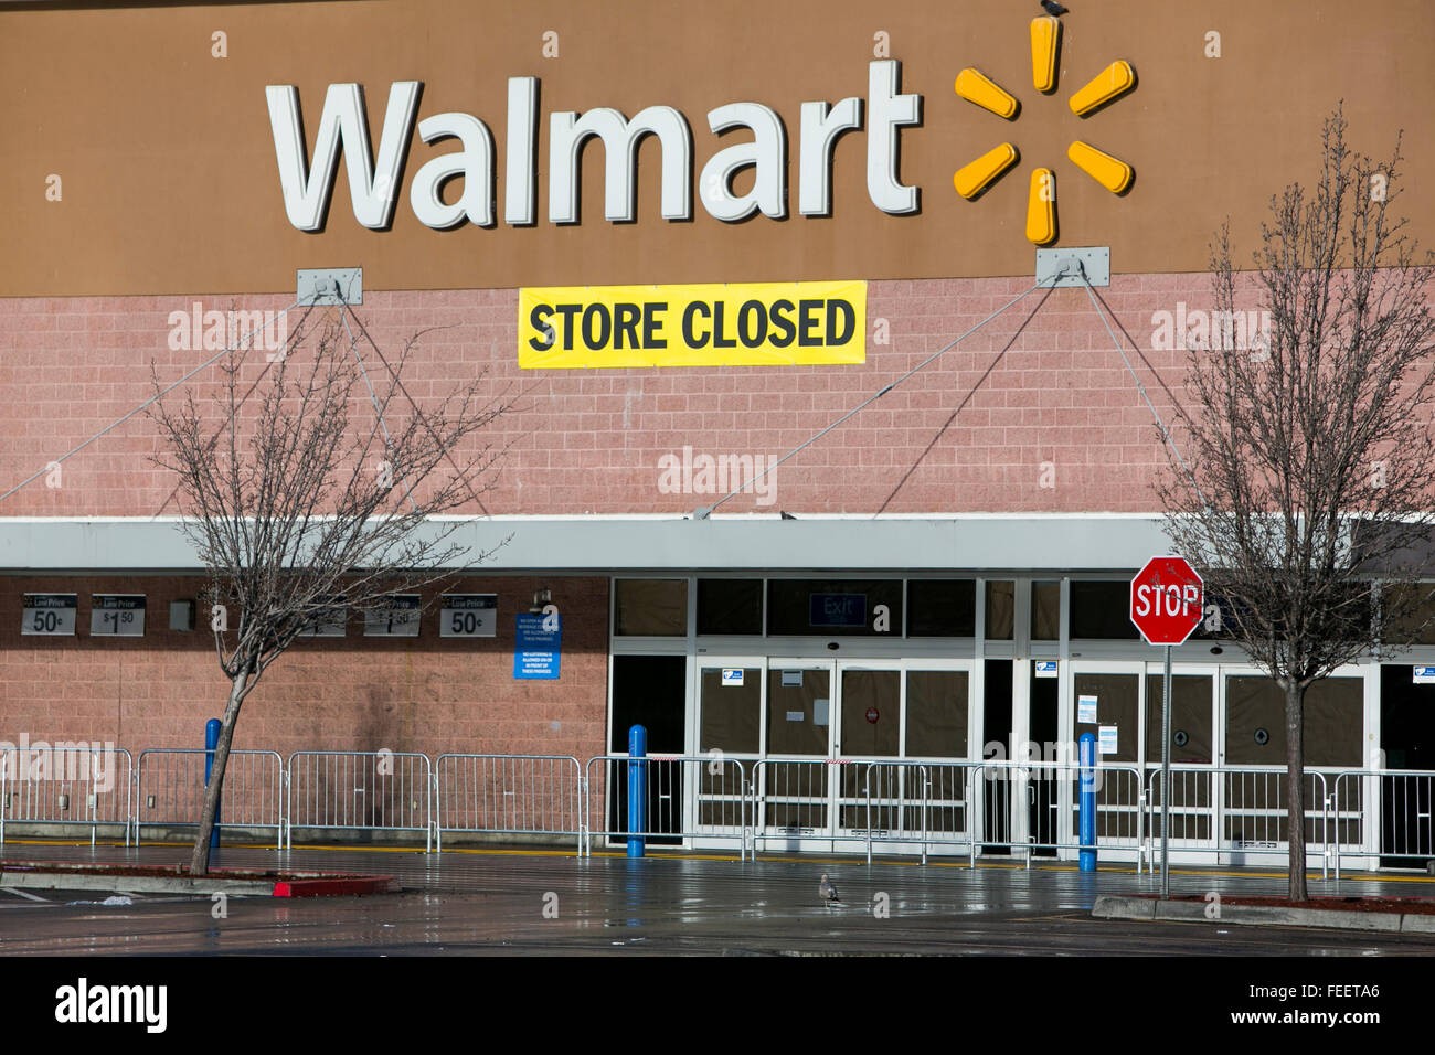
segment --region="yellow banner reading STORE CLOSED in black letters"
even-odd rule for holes
[[[558,286],[518,291],[518,366],[867,362],[867,283]]]

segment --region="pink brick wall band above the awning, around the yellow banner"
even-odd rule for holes
[[[445,395],[482,369],[495,393],[525,390],[524,409],[488,436],[512,445],[484,495],[489,512],[683,512],[712,497],[660,492],[663,455],[683,445],[785,454],[1029,286],[870,283],[862,366],[521,372],[514,290],[367,291],[357,314],[393,352],[419,329],[443,327],[423,336],[406,375],[416,398]],[[1187,353],[1152,350],[1152,313],[1178,301],[1210,309],[1210,277],[1116,276],[1101,293],[1145,355],[1131,353],[1170,419],[1165,386],[1180,390]],[[1149,484],[1167,462],[1134,380],[1083,290],[1052,291],[1023,327],[1042,296],[784,464],[772,505],[740,495],[723,511],[1155,510]],[[169,313],[195,300],[207,310],[288,304],[224,294],[0,300],[0,491],[146,399],[152,362],[169,382],[212,355],[168,347]],[[890,344],[872,343],[877,319],[888,320]],[[136,416],[69,459],[60,487],[37,479],[0,515],[178,512],[172,482],[149,464],[156,449],[154,426]],[[1055,464],[1055,487],[1040,487],[1043,462]]]

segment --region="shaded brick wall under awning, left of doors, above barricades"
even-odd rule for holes
[[[235,748],[561,754],[604,749],[608,586],[554,578],[564,613],[557,682],[514,680],[514,613],[540,583],[465,578],[453,591],[498,594],[498,637],[443,640],[425,611],[415,640],[363,637],[297,643],[244,703]],[[174,577],[6,578],[0,581],[0,741],[112,741],[142,748],[204,746],[204,723],[222,713],[228,683],[208,632],[171,632],[169,601],[195,597],[198,580]],[[76,637],[22,637],[22,594],[79,593]],[[89,636],[89,593],[144,593],[144,639]]]

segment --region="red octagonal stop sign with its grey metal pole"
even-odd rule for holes
[[[1182,557],[1152,557],[1131,580],[1131,622],[1148,644],[1165,646],[1161,679],[1161,897],[1171,896],[1171,649],[1201,622],[1201,577]]]

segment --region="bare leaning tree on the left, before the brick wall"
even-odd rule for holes
[[[481,375],[425,408],[402,383],[416,337],[392,362],[370,344],[364,363],[347,320],[306,332],[307,319],[280,356],[232,349],[208,393],[149,412],[165,442],[155,461],[178,475],[181,530],[208,568],[230,679],[195,876],[208,870],[240,709],[270,665],[336,610],[386,607],[491,553],[469,554],[451,538],[459,521],[433,517],[491,487],[501,452],[474,433],[511,403],[485,400]]]

